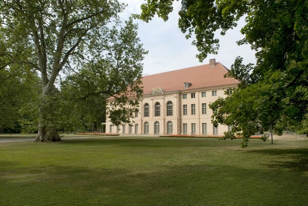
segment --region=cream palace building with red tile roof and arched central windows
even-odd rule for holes
[[[107,118],[106,133],[223,135],[230,128],[213,126],[208,105],[239,84],[224,78],[227,71],[210,59],[207,65],[142,77],[143,96],[134,123],[113,126]]]

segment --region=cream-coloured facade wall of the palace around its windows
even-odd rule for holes
[[[132,118],[132,134],[134,134],[135,125],[138,125],[138,134],[144,134],[144,123],[149,123],[148,134],[154,134],[154,123],[159,122],[160,131],[159,134],[167,134],[167,122],[172,122],[172,134],[184,134],[183,123],[187,124],[187,135],[191,135],[191,124],[196,124],[196,135],[203,135],[202,123],[206,123],[206,135],[214,135],[213,123],[211,123],[211,115],[213,111],[209,109],[208,105],[214,102],[218,97],[225,97],[224,91],[229,88],[236,87],[232,85],[230,87],[213,87],[213,88],[200,88],[194,90],[182,90],[174,92],[166,92],[159,95],[144,95],[140,101],[138,117]],[[184,89],[184,88],[183,88]],[[212,91],[217,91],[217,95],[213,96]],[[202,92],[205,92],[206,96],[202,97]],[[195,93],[195,98],[191,98],[191,93]],[[183,99],[183,94],[187,95],[186,99]],[[112,100],[111,100],[112,101]],[[172,116],[167,116],[167,102],[172,102]],[[160,116],[155,116],[155,105],[160,103]],[[202,114],[202,104],[206,104],[206,114]],[[149,116],[144,116],[144,105],[149,105]],[[195,104],[196,113],[191,114],[191,105]],[[183,105],[187,105],[187,115],[183,115]],[[107,118],[106,121],[106,133],[109,133],[109,127],[111,122]],[[218,125],[218,134],[223,135],[223,132],[227,131],[226,126]],[[117,127],[112,126],[111,133],[117,133]],[[120,126],[120,134],[123,134],[123,127]],[[129,125],[125,126],[125,134],[129,134]]]

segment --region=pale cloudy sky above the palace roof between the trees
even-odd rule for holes
[[[120,15],[123,20],[128,19],[133,13],[141,13],[140,5],[144,3],[143,0],[122,0],[122,2],[128,4]],[[211,58],[215,58],[227,68],[231,67],[237,56],[244,58],[244,64],[256,62],[255,52],[248,45],[238,46],[236,44],[237,40],[243,38],[240,29],[245,25],[245,22],[244,19],[240,19],[238,26],[227,31],[224,36],[217,32],[216,36],[220,40],[218,54],[209,54],[203,63],[200,63],[196,58],[198,50],[191,45],[192,39],[186,39],[185,34],[178,27],[180,2],[174,3],[174,11],[169,14],[167,22],[157,16],[152,18],[149,23],[141,20],[134,21],[139,25],[138,34],[143,48],[148,51],[143,60],[144,75],[208,64]]]

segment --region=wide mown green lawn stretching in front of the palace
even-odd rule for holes
[[[307,205],[308,139],[0,143],[0,205]]]

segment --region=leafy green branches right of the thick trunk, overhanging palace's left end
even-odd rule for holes
[[[114,125],[128,123],[132,113],[138,110],[142,95],[142,60],[147,52],[140,44],[137,29],[129,19],[121,28],[114,26],[106,30],[99,44],[93,45],[106,53],[95,54],[89,63],[81,65],[78,71],[73,70],[63,81],[61,90],[70,96],[68,99],[77,101],[84,111],[95,110],[95,117],[84,117],[89,119],[88,123],[98,125],[103,121],[108,97],[114,99],[113,107],[108,107],[107,112]]]

